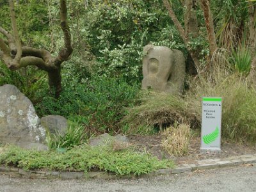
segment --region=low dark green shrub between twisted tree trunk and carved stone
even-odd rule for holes
[[[70,83],[59,99],[44,97],[36,109],[40,115],[63,115],[95,132],[119,131],[117,122],[138,90],[137,84],[131,86],[122,79],[94,78],[84,84]]]

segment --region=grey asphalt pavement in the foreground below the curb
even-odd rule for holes
[[[0,175],[0,191],[256,191],[256,164],[131,180],[20,179]]]

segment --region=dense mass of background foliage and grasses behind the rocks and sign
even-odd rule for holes
[[[185,1],[168,2],[186,31],[188,9],[184,6]],[[255,2],[211,1],[218,45],[212,58],[208,58],[204,13],[200,1],[195,2],[193,11],[198,35],[188,34],[189,40],[185,43],[162,0],[67,1],[74,54],[62,68],[60,98],[49,96],[45,72],[35,67],[10,72],[0,61],[0,86],[15,84],[33,101],[40,116],[63,115],[94,133],[152,132],[156,127],[166,127],[180,119],[192,124],[193,128],[199,127],[200,103],[196,99],[202,95],[224,98],[232,95],[232,99],[227,99],[227,108],[223,109],[224,136],[239,140],[244,132],[243,135],[252,141],[256,135],[255,111],[251,110],[255,106],[255,89],[252,84],[248,86],[246,77],[255,68],[251,67],[255,47],[250,37],[256,25],[256,19],[253,22],[250,15]],[[1,1],[0,7],[0,26],[10,29],[8,1]],[[63,43],[58,0],[16,1],[16,11],[22,44],[57,54]],[[195,79],[188,77],[190,90],[186,94],[198,98],[188,100],[186,94],[180,99],[147,92],[139,95],[142,97],[139,102],[136,100],[142,79],[142,50],[147,44],[179,49],[186,57],[191,52],[196,53],[200,61],[200,79],[195,83]],[[234,74],[239,75],[234,79]],[[219,77],[227,79],[218,81]],[[240,84],[236,88],[228,86],[227,82]],[[212,89],[204,86],[205,83]],[[223,88],[225,86],[228,88]],[[239,102],[241,99],[243,102]]]

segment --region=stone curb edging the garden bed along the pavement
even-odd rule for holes
[[[173,169],[157,170],[156,172],[145,175],[127,175],[120,176],[115,173],[106,172],[51,172],[51,171],[25,171],[20,168],[8,166],[0,166],[1,175],[9,175],[9,177],[24,177],[31,179],[135,179],[141,177],[155,177],[157,175],[171,175],[184,172],[194,172],[195,170],[207,170],[212,168],[221,168],[227,166],[237,166],[240,164],[256,163],[256,154],[248,154],[242,156],[232,156],[225,159],[204,159],[195,161],[191,164],[180,164]]]

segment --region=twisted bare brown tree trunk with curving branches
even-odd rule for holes
[[[61,49],[58,56],[54,57],[44,49],[22,46],[15,19],[14,1],[9,0],[10,17],[12,20],[12,33],[0,26],[0,33],[5,38],[0,38],[0,58],[10,70],[17,70],[28,65],[36,65],[47,72],[51,92],[59,97],[61,92],[61,63],[67,61],[72,54],[71,34],[67,22],[67,4],[60,0],[60,26],[64,35],[65,47]]]

